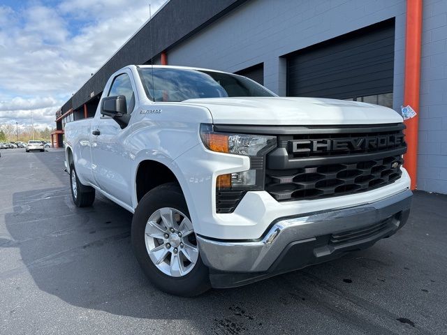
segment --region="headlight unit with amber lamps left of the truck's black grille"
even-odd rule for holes
[[[250,165],[256,158],[256,168],[221,174],[217,177],[216,188],[219,191],[262,190],[264,188],[264,156],[277,145],[277,137],[268,135],[217,133],[212,125],[200,125],[200,138],[207,149],[226,154],[250,157]]]

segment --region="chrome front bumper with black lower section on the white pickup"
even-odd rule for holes
[[[293,258],[298,258],[296,268],[299,269],[323,262],[342,251],[370,246],[394,234],[406,223],[412,194],[406,190],[356,207],[279,218],[258,240],[226,241],[199,235],[200,255],[205,265],[213,270],[262,273],[272,271],[273,265],[276,267],[279,259],[284,258],[286,249],[292,245],[295,248],[300,245],[311,246],[310,253],[305,255],[298,252],[293,255]],[[323,244],[320,237],[327,237],[323,239]],[[341,242],[337,240],[334,243],[334,237]],[[291,258],[290,255],[288,258]]]

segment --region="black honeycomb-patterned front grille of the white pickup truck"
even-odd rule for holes
[[[403,125],[369,126],[361,132],[362,128],[356,126],[355,130],[352,127],[331,129],[333,133],[326,133],[325,128],[321,128],[323,133],[319,128],[309,128],[307,134],[281,135],[278,148],[267,156],[265,190],[274,199],[287,201],[360,193],[391,184],[402,174],[401,155],[406,151],[406,144],[403,140],[397,144],[399,141],[395,138],[403,137],[403,128]],[[291,142],[304,137],[307,137],[304,141],[318,138],[318,143],[329,143],[328,140],[335,138],[342,139],[339,143],[346,143],[347,138],[355,139],[356,143],[365,138],[386,138],[383,143],[387,145],[349,147],[346,144],[346,150],[333,150],[330,144],[324,144],[325,151],[300,151],[301,144],[291,146]]]

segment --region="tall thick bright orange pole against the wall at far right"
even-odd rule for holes
[[[404,106],[410,105],[419,112],[420,45],[422,35],[422,1],[406,0],[405,82]],[[405,121],[405,140],[408,151],[404,155],[404,167],[411,177],[411,189],[416,188],[418,165],[418,115]]]

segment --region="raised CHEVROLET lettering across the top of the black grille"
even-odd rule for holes
[[[386,149],[400,146],[402,143],[404,143],[403,134],[335,138],[330,140],[292,140],[288,141],[288,150],[293,154],[305,154],[308,152]]]

